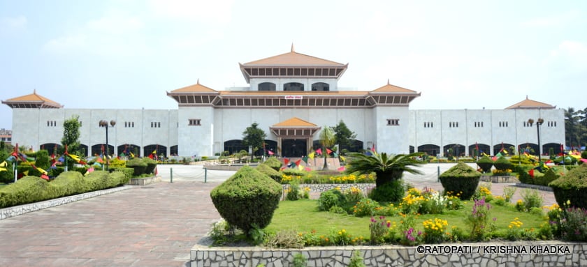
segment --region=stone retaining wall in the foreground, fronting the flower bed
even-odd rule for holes
[[[447,253],[447,247],[449,249]],[[354,251],[360,252],[366,266],[587,266],[587,243],[501,242],[447,243],[404,247],[348,246],[266,249],[263,247],[191,248],[192,267],[207,266],[293,266],[293,256],[301,253],[307,266],[348,266]]]

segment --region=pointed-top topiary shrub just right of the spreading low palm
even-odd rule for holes
[[[463,162],[440,174],[440,183],[444,192],[452,192],[453,195],[461,192],[459,197],[463,200],[470,199],[479,185],[481,173]]]

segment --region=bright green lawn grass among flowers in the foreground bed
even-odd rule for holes
[[[463,229],[463,234],[468,236],[469,227],[465,222],[472,210],[472,201],[466,201],[464,208],[458,211],[444,211],[442,214],[418,215],[416,229],[423,229],[422,222],[428,219],[440,218],[449,222],[449,227],[456,226]],[[345,229],[352,236],[370,236],[370,217],[357,218],[347,214],[318,211],[318,201],[314,199],[300,199],[298,201],[281,201],[279,208],[273,215],[273,220],[266,227],[266,231],[277,232],[293,229],[297,232],[309,233],[315,231],[318,235],[328,235],[333,231]],[[540,224],[547,221],[546,215],[536,215],[527,212],[516,211],[512,206],[491,205],[489,218],[496,218],[496,230],[492,236],[505,236],[508,225],[518,218],[526,229],[538,229]],[[400,224],[401,215],[387,216],[386,220]]]

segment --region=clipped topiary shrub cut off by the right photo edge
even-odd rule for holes
[[[559,206],[587,208],[587,165],[581,165],[549,183],[554,192],[554,198]]]

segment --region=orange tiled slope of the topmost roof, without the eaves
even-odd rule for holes
[[[259,59],[249,63],[242,64],[243,66],[337,66],[342,67],[345,64],[329,61],[326,59],[319,59],[315,56],[308,56],[307,54],[300,54],[293,50],[291,45],[291,52],[279,54],[277,56],[270,56],[266,59]]]

